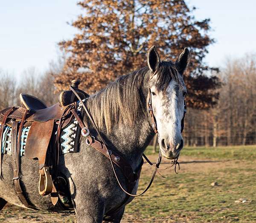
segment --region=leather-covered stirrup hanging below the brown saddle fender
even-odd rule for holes
[[[48,195],[52,192],[52,177],[49,173],[49,167],[43,167],[39,170],[40,179],[39,179],[39,194],[40,195]]]

